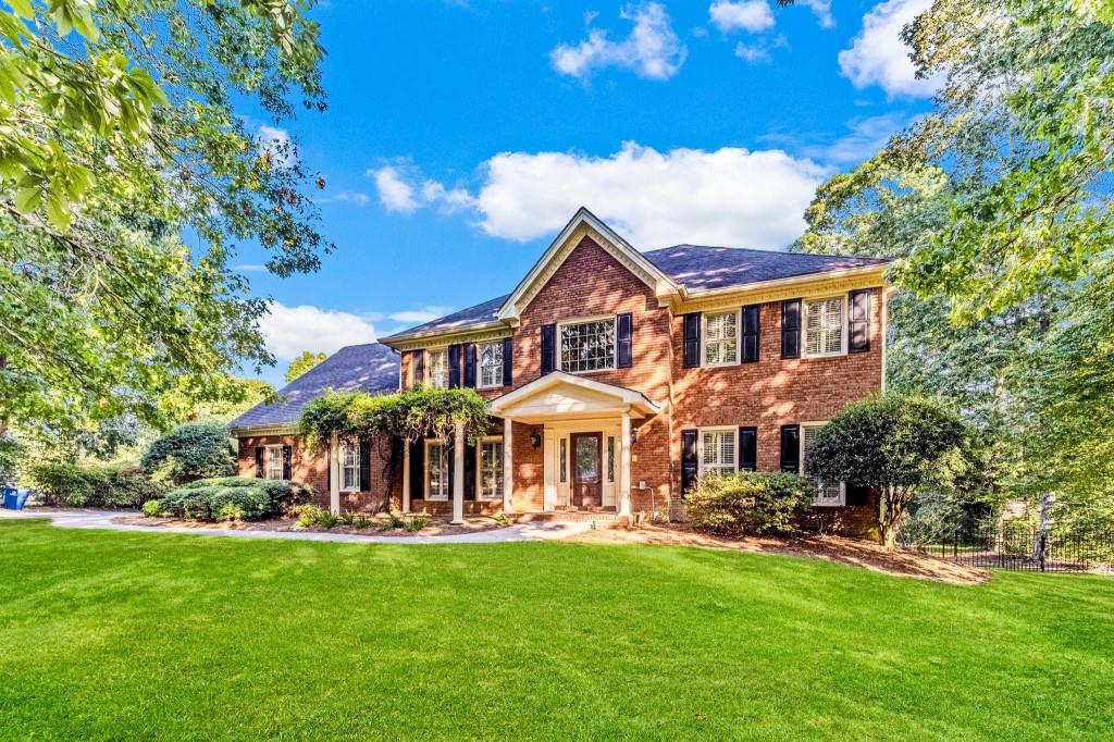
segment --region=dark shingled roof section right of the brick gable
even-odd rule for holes
[[[674,245],[643,253],[690,291],[725,289],[727,286],[775,279],[789,279],[809,273],[823,273],[863,265],[883,265],[880,257],[852,257],[844,255],[812,255],[782,253],[772,250],[744,247],[705,247],[703,245]]]

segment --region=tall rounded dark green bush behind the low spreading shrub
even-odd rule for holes
[[[182,426],[159,438],[139,465],[149,476],[172,485],[236,473],[228,431],[209,423]]]

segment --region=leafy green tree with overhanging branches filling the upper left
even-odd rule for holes
[[[237,242],[316,270],[311,175],[281,131],[324,108],[309,0],[10,0],[0,9],[0,429],[155,424],[273,363]],[[323,183],[317,180],[317,185]],[[189,235],[188,242],[183,235]]]

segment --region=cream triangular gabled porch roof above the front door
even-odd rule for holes
[[[522,422],[599,418],[629,412],[648,418],[661,406],[626,387],[554,371],[491,400],[491,413]]]

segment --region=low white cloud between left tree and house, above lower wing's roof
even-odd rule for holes
[[[302,351],[334,353],[345,345],[375,340],[375,328],[367,320],[309,304],[286,306],[272,302],[271,313],[260,320],[260,330],[267,349],[287,361]]]

